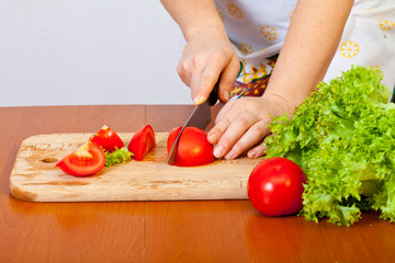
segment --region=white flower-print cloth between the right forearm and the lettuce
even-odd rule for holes
[[[347,21],[339,48],[324,78],[340,76],[341,71],[361,65],[380,68],[383,83],[395,85],[395,1],[357,0]]]

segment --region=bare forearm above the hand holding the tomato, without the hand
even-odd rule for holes
[[[352,0],[300,0],[267,94],[292,107],[323,80],[339,45]]]

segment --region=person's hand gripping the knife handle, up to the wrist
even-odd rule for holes
[[[227,102],[239,70],[239,60],[228,37],[215,28],[195,32],[177,67],[181,80],[191,88],[195,105],[207,100],[219,76],[218,98]]]

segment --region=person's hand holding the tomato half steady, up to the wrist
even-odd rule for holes
[[[272,117],[284,113],[291,116],[293,110],[285,99],[272,94],[229,101],[207,135],[208,141],[216,145],[214,156],[235,159],[248,149],[249,158],[263,156],[262,140],[269,134]]]

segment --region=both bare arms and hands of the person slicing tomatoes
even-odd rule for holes
[[[161,0],[180,25],[187,47],[178,72],[191,88],[194,104],[204,102],[218,77],[219,99],[228,93],[239,71],[239,61],[213,0]],[[261,98],[230,101],[208,132],[217,158],[234,159],[264,153],[262,139],[272,117],[287,113],[324,78],[336,53],[353,0],[298,0],[292,21]],[[317,26],[319,25],[319,26]],[[248,30],[248,28],[246,28]]]

